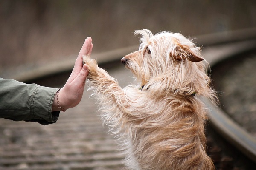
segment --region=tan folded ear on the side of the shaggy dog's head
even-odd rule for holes
[[[188,59],[189,61],[192,61],[192,62],[200,62],[204,60],[202,57],[199,57],[198,55],[193,53],[188,46],[183,46],[183,45],[176,46],[176,54],[174,57],[177,60]]]

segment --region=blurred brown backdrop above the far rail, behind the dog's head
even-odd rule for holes
[[[143,28],[197,37],[251,27],[255,0],[0,0],[0,77],[75,57],[87,36],[96,54],[138,45]]]

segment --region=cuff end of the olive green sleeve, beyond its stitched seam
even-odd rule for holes
[[[58,88],[37,86],[31,99],[31,116],[35,121],[47,125],[55,123],[59,117],[59,111],[52,112],[52,104]],[[34,121],[32,121],[34,122]]]

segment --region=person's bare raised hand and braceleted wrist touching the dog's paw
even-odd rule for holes
[[[83,65],[82,56],[90,55],[93,49],[91,37],[85,39],[84,44],[78,54],[74,68],[66,84],[59,91],[58,101],[59,105],[64,109],[73,108],[79,104],[84,93],[85,80],[88,75],[88,66]],[[52,105],[52,111],[60,111],[57,103],[57,95]]]

